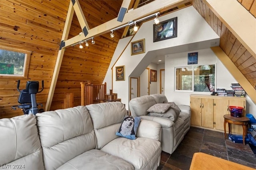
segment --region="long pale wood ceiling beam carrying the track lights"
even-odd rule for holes
[[[191,0],[155,0],[153,2],[150,2],[149,4],[146,4],[140,8],[137,8],[135,10],[132,10],[131,12],[126,13],[122,23],[117,21],[117,18],[114,18],[113,20],[110,20],[106,23],[103,23],[101,25],[98,25],[97,27],[90,29],[88,31],[87,36],[76,35],[75,37],[66,40],[65,47],[63,48],[70,47],[71,45],[78,43],[79,41],[83,41],[91,37],[97,37],[104,33],[110,32],[111,29],[124,25],[129,21],[138,20],[150,14],[159,12],[160,10],[163,10],[165,8],[174,8],[177,6],[177,3],[187,3],[190,1]]]

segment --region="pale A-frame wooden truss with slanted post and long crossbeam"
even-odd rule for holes
[[[140,8],[136,8],[136,9],[126,13],[124,15],[122,22],[118,21],[117,20],[118,18],[114,18],[113,20],[110,20],[106,23],[103,23],[101,25],[98,25],[97,27],[90,29],[88,26],[88,23],[84,17],[84,13],[82,12],[82,8],[81,8],[78,0],[70,0],[67,19],[66,19],[66,23],[64,26],[63,34],[62,34],[62,41],[60,43],[60,50],[58,52],[58,56],[57,56],[57,60],[56,60],[56,64],[55,64],[54,73],[53,73],[53,77],[52,77],[52,82],[51,82],[45,110],[46,111],[50,110],[50,106],[52,103],[54,90],[55,90],[56,83],[58,80],[58,74],[60,72],[60,66],[62,63],[65,48],[70,47],[71,45],[78,43],[80,41],[83,41],[85,39],[89,39],[90,37],[99,36],[104,33],[110,32],[111,29],[114,29],[121,25],[125,25],[129,21],[138,20],[138,19],[148,16],[150,14],[154,14],[156,12],[160,12],[160,11],[163,11],[166,9],[168,10],[170,8],[174,8],[176,6],[179,6],[180,4],[184,4],[189,1],[190,0],[155,0],[149,4],[146,4]],[[133,3],[133,0],[124,0],[122,3],[122,8],[128,9],[131,2]],[[72,18],[73,18],[74,12],[76,12],[76,16],[78,18],[78,21],[79,21],[79,24],[81,26],[83,33],[68,39],[68,34],[70,31],[70,26],[72,23]]]

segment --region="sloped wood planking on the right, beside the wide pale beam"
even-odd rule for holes
[[[254,17],[256,16],[256,0],[238,0]],[[212,29],[220,36],[220,48],[232,62],[256,87],[256,58],[236,39],[232,32],[218,19],[203,0],[194,0],[192,5],[206,20]]]

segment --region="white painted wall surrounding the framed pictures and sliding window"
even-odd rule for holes
[[[230,89],[230,84],[236,83],[236,80],[234,80],[228,70],[226,70],[223,64],[217,59],[211,49],[209,49],[210,46],[219,45],[218,35],[212,30],[200,14],[198,14],[194,7],[190,6],[166,16],[159,17],[159,20],[165,21],[176,16],[178,17],[178,37],[176,38],[153,43],[154,21],[151,20],[141,25],[138,32],[134,37],[132,37],[131,42],[145,39],[145,53],[131,55],[130,44],[126,49],[124,49],[127,45],[126,42],[128,42],[127,39],[121,39],[120,43],[118,43],[118,47],[116,48],[116,51],[118,51],[118,57],[121,54],[120,51],[123,49],[124,51],[117,62],[116,59],[118,57],[115,56],[111,63],[113,64],[116,62],[113,68],[125,65],[125,81],[115,81],[116,73],[114,69],[113,92],[117,93],[118,98],[121,98],[122,102],[126,104],[127,110],[129,102],[129,76],[139,77],[144,69],[150,65],[151,60],[158,56],[159,53],[160,55],[166,55],[166,61],[164,67],[159,64],[156,66],[156,69],[154,69],[158,71],[156,92],[160,93],[160,69],[165,68],[165,94],[169,101],[174,101],[177,104],[190,104],[189,96],[191,93],[174,92],[174,67],[186,66],[187,54],[189,52],[198,52],[198,64],[216,64],[216,87]],[[122,50],[119,48],[122,48]],[[110,68],[112,67],[112,64],[110,64]],[[112,82],[110,68],[108,69],[108,73],[104,80],[107,83]],[[248,97],[246,98],[246,101],[246,112],[251,113],[256,117],[256,105],[253,104]]]

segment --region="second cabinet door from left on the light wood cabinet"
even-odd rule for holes
[[[202,127],[213,129],[213,99],[202,98]]]

